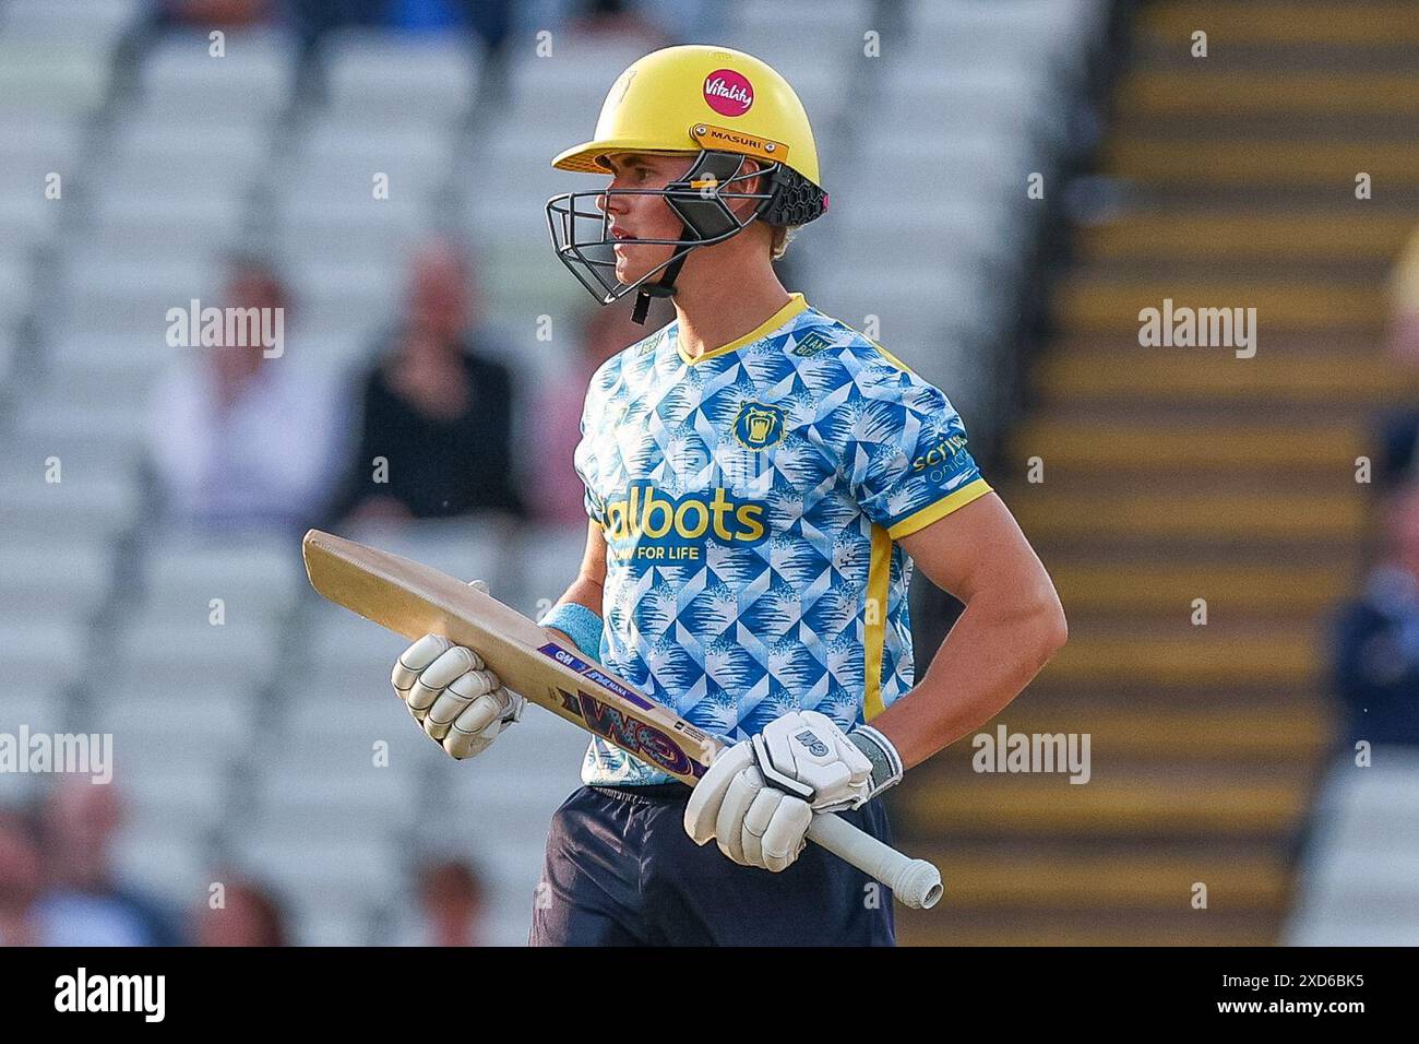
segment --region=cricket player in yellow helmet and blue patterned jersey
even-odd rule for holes
[[[807,845],[812,815],[890,844],[883,791],[1064,643],[1054,587],[946,396],[775,274],[827,210],[778,72],[719,47],[648,54],[553,165],[610,179],[548,203],[562,261],[603,304],[668,297],[675,318],[592,378],[586,553],[542,622],[732,746],[691,790],[593,739],[529,942],[893,945],[890,893]],[[914,562],[965,602],[920,682]],[[524,706],[433,635],[393,685],[455,758]]]

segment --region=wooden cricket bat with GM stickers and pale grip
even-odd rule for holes
[[[311,585],[365,619],[414,641],[441,635],[478,652],[504,685],[640,760],[694,785],[725,746],[639,693],[549,629],[477,588],[407,558],[311,530],[301,544]],[[809,839],[891,888],[907,906],[941,899],[941,874],[840,815],[813,817]]]

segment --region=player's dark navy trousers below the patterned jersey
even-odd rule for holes
[[[885,885],[809,842],[780,874],[685,834],[690,788],[580,787],[552,817],[531,946],[893,946]],[[885,844],[881,801],[840,812]]]

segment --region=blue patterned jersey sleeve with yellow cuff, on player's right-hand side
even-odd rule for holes
[[[890,357],[888,357],[890,358]],[[900,540],[990,491],[966,449],[961,416],[935,385],[873,362],[830,425],[841,474],[874,523]]]

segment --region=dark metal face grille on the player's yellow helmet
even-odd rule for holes
[[[755,219],[771,224],[806,224],[827,209],[827,196],[813,182],[782,163],[768,163],[744,172],[746,158],[735,152],[705,149],[680,180],[664,189],[599,189],[565,192],[546,202],[552,249],[578,283],[602,304],[612,304],[660,276],[695,247],[722,243]],[[768,192],[735,192],[738,182],[765,176]],[[634,283],[616,278],[616,239],[602,200],[607,196],[660,196],[683,222],[680,239],[641,239],[643,244],[674,246],[661,264]],[[748,217],[739,219],[727,199],[758,200]]]

